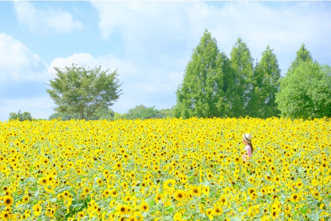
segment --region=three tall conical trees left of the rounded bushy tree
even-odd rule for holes
[[[300,54],[309,55],[307,51]],[[279,116],[275,95],[281,70],[269,45],[256,67],[240,37],[230,57],[219,52],[216,40],[205,30],[178,87],[175,117]]]

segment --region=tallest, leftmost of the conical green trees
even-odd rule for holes
[[[227,95],[229,88],[226,81],[230,68],[225,53],[219,53],[217,42],[205,30],[200,43],[192,53],[178,87],[175,117],[220,117],[229,114]]]

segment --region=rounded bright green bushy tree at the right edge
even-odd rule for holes
[[[276,102],[282,117],[331,116],[331,69],[312,60],[298,61],[281,79]]]

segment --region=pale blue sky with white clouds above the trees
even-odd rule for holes
[[[230,58],[238,37],[259,61],[267,45],[284,75],[302,43],[331,65],[329,1],[0,1],[0,121],[48,117],[53,67],[118,70],[123,94],[111,108],[176,104],[176,90],[207,29]]]

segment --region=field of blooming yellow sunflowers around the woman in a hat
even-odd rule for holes
[[[331,220],[330,120],[0,122],[0,220]]]

